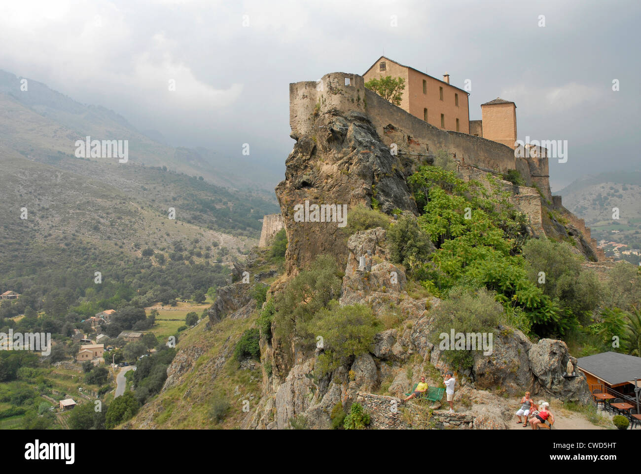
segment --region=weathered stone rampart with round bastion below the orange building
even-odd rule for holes
[[[290,83],[292,138],[313,136],[317,117],[333,112],[369,120],[376,128],[381,143],[390,149],[392,144],[395,144],[399,155],[412,157],[413,164],[409,170],[405,170],[406,172],[413,172],[416,166],[426,162],[425,160],[435,155],[438,150],[447,150],[451,158],[458,163],[459,171],[462,171],[463,175],[478,177],[488,171],[519,171],[526,181],[526,186],[513,187],[512,202],[529,216],[531,227],[536,234],[544,234],[542,197],[549,202],[549,206],[562,208],[560,197],[553,197],[551,193],[548,159],[545,153],[530,154],[520,150],[522,153],[519,154],[510,146],[483,137],[434,127],[401,107],[392,105],[375,92],[365,89],[365,80],[360,75],[329,73],[319,81]],[[596,250],[596,243],[594,239],[590,240],[589,229],[585,224],[581,224],[582,220],[567,209],[562,209],[571,224],[583,233],[586,240],[592,243],[591,247]]]

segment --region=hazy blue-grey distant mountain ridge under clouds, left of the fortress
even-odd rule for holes
[[[29,159],[42,161],[60,153],[73,155],[76,140],[90,136],[128,140],[129,162],[167,166],[169,170],[202,176],[219,186],[252,189],[272,196],[281,179],[278,173],[240,153],[228,157],[204,148],[174,148],[159,132],[141,132],[113,110],[84,105],[44,83],[23,80],[1,70],[0,108],[0,149],[13,149]]]

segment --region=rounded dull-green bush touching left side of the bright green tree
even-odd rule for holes
[[[386,240],[392,263],[402,263],[408,268],[424,263],[434,250],[428,234],[420,229],[410,213],[390,225]]]

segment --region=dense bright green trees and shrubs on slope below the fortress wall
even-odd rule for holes
[[[613,336],[622,337],[622,350],[637,347],[636,268],[619,265],[601,283],[568,243],[528,238],[526,217],[492,177],[488,190],[455,171],[423,166],[408,182],[420,216],[417,224],[411,216],[393,223],[388,244],[394,261],[432,294],[485,288],[495,292],[510,325],[531,335],[580,340],[588,351],[612,350]],[[424,236],[436,247],[428,258]]]

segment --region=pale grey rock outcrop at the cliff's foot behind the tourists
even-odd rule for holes
[[[447,367],[438,347],[430,342],[430,310],[440,300],[415,299],[406,292],[403,268],[385,259],[385,234],[378,227],[349,238],[340,304],[367,304],[379,317],[394,311],[403,324],[378,333],[370,353],[354,357],[349,366],[324,378],[313,375],[318,351],[297,352],[296,363],[282,382],[272,380],[274,385],[263,394],[264,401],[247,427],[287,428],[291,419],[303,417],[308,428],[329,428],[331,412],[339,401],[344,407],[358,401],[370,413],[373,428],[506,429],[512,421],[513,401],[504,395],[517,398],[529,390],[535,398],[589,401],[583,378],[563,376],[567,363],[576,362],[564,342],[542,339],[533,344],[520,331],[497,328],[492,355],[477,353],[472,368],[456,374],[454,402],[463,408],[448,414],[410,403],[399,405],[394,412],[394,403],[417,382],[419,374],[425,374],[426,367],[432,367],[427,374],[431,385],[440,383],[436,374],[452,367]],[[359,270],[360,254],[378,263],[370,270]],[[390,272],[396,273],[395,283],[390,283]],[[372,393],[385,381],[389,381],[387,391],[395,396]]]

